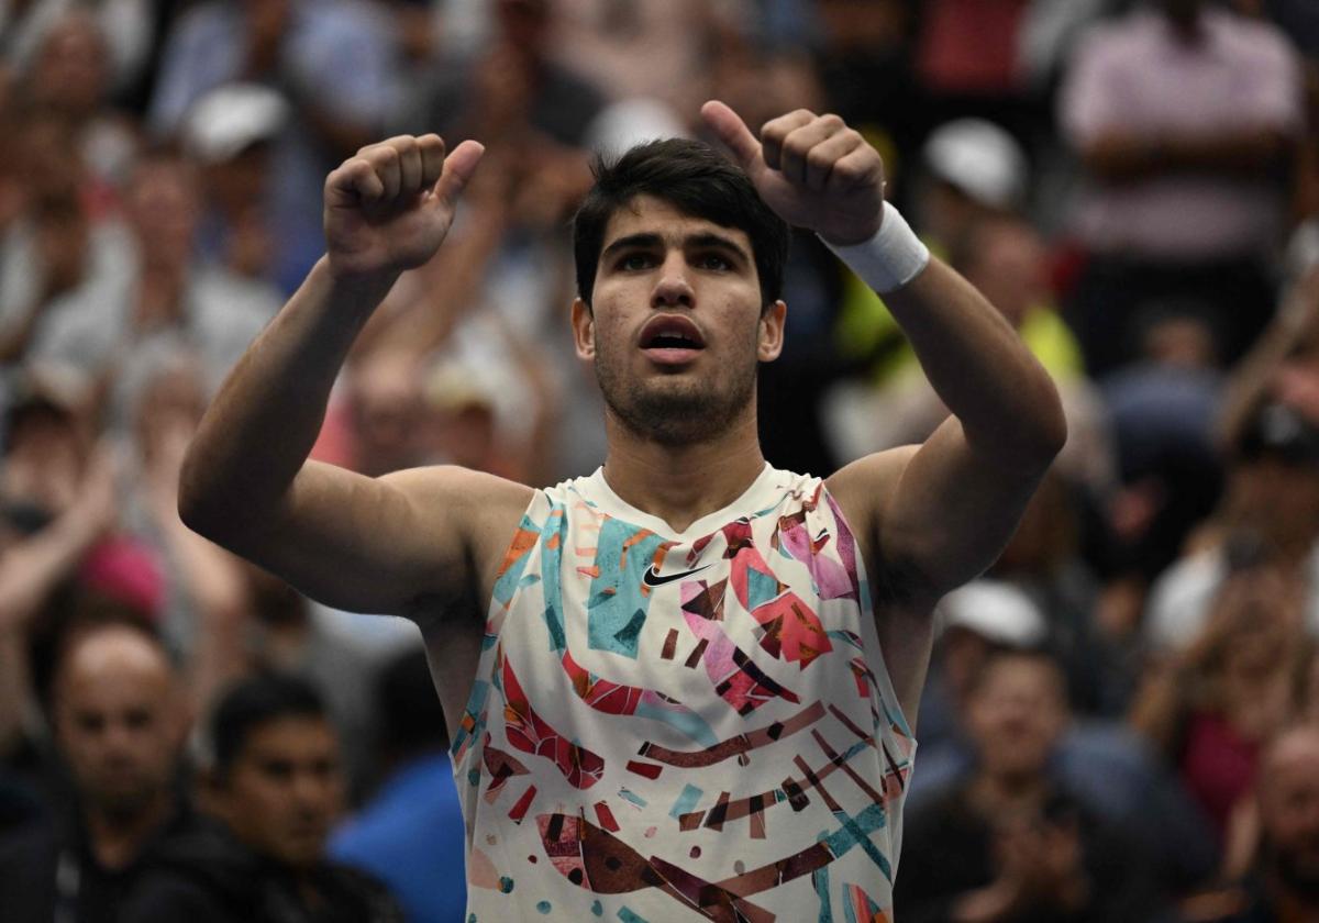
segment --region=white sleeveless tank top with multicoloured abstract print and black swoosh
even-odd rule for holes
[[[890,920],[914,752],[822,480],[682,533],[539,491],[454,729],[467,922]]]

